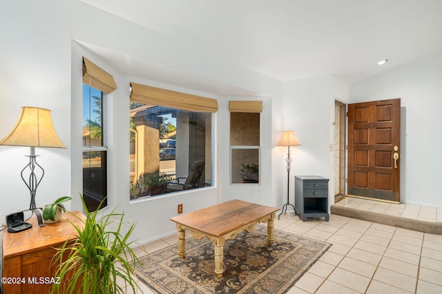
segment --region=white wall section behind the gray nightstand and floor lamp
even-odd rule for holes
[[[333,152],[334,101],[348,101],[348,85],[334,76],[304,78],[285,84],[284,129],[293,130],[301,143],[291,147],[289,198],[294,202],[294,176],[329,179],[329,205],[334,204]],[[287,147],[283,149],[287,157]],[[287,171],[284,171],[287,177]],[[284,193],[287,198],[287,180]]]

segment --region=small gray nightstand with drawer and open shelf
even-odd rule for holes
[[[295,207],[302,222],[324,217],[329,221],[329,179],[320,176],[295,176]]]

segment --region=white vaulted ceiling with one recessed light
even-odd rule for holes
[[[351,85],[442,50],[441,0],[81,1],[280,81]]]

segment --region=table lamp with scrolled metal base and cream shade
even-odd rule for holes
[[[0,140],[0,145],[30,147],[29,163],[21,171],[21,179],[30,192],[29,210],[36,212],[36,214],[39,213],[35,206],[35,193],[43,179],[44,169],[37,163],[38,155],[35,155],[35,147],[66,148],[52,125],[50,110],[21,107],[19,120],[12,131]]]

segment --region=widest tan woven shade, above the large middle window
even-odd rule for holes
[[[131,102],[161,105],[191,112],[217,112],[218,101],[212,98],[164,90],[131,83]]]

